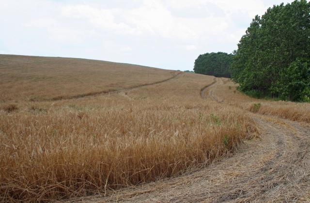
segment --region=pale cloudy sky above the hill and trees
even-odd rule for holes
[[[0,0],[0,54],[192,70],[283,0]]]

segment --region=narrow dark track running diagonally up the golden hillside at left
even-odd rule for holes
[[[84,98],[84,97],[95,97],[95,96],[99,96],[99,95],[109,95],[109,94],[121,93],[121,92],[130,91],[130,90],[133,90],[133,89],[137,89],[137,88],[140,88],[140,87],[146,87],[146,86],[151,86],[151,85],[156,85],[156,84],[164,83],[164,82],[167,82],[167,81],[169,81],[171,79],[176,78],[177,76],[179,76],[181,74],[184,74],[184,73],[180,72],[180,73],[177,73],[177,74],[173,75],[170,78],[167,78],[167,79],[164,79],[164,80],[161,80],[161,81],[156,81],[156,82],[153,82],[153,83],[142,84],[142,85],[136,85],[136,86],[120,89],[120,90],[112,89],[112,90],[104,90],[104,91],[91,92],[91,93],[85,93],[85,94],[79,94],[79,95],[73,95],[73,96],[65,96],[65,97],[59,96],[59,97],[54,97],[54,98],[47,99],[47,100],[44,100],[44,101],[73,100],[73,99],[80,99],[80,98]],[[31,102],[36,102],[36,101],[31,101]]]

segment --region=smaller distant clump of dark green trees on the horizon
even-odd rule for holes
[[[231,77],[233,55],[223,52],[199,55],[195,60],[194,72],[216,77]]]

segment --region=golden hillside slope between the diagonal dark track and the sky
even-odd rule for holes
[[[108,61],[0,55],[0,101],[43,101],[149,84],[175,72]]]

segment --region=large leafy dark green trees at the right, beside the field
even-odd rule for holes
[[[282,3],[255,16],[234,54],[232,77],[241,91],[309,101],[310,3]]]

